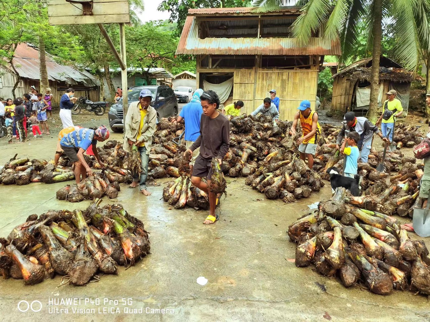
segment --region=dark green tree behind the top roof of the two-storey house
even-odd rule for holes
[[[176,36],[180,36],[188,9],[247,7],[250,4],[250,0],[163,0],[158,10],[170,13],[170,21],[178,23]]]

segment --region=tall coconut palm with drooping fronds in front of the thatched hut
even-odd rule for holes
[[[287,1],[287,3],[286,3]],[[258,11],[276,11],[288,0],[254,0]],[[372,79],[369,119],[376,122],[378,114],[379,56],[381,55],[382,21],[393,21],[395,56],[405,67],[417,70],[425,48],[430,43],[430,0],[299,0],[301,15],[292,25],[298,45],[306,45],[312,32],[322,30],[322,37],[341,42],[344,63],[353,56],[359,30],[369,34],[372,48]]]

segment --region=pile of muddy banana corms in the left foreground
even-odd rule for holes
[[[23,279],[27,285],[68,277],[73,285],[117,274],[118,265],[133,265],[149,254],[143,223],[120,204],[98,207],[96,199],[84,211],[49,210],[12,229],[0,238],[0,272]]]

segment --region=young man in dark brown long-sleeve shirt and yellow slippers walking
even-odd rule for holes
[[[218,158],[219,163],[230,146],[230,122],[218,112],[219,97],[214,91],[205,91],[200,95],[203,114],[200,118],[200,136],[187,151],[192,152],[200,146],[200,154],[196,159],[191,175],[191,183],[209,194],[209,216],[203,224],[213,224],[218,220],[215,214],[217,195],[208,190],[212,176],[212,158]],[[186,153],[186,152],[185,152]],[[202,178],[206,176],[206,182]]]

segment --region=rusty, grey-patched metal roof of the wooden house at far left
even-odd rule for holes
[[[26,43],[18,44],[13,64],[21,77],[40,79],[39,52],[32,46]],[[71,85],[83,83],[88,87],[100,85],[98,80],[86,70],[79,71],[71,66],[60,65],[49,54],[46,54],[46,69],[48,79],[52,81],[66,82]]]

